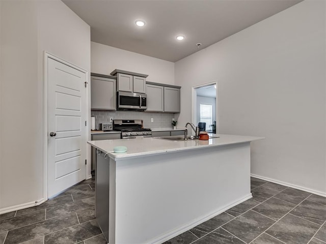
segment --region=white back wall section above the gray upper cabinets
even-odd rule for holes
[[[110,75],[115,69],[146,74],[147,81],[174,84],[174,63],[91,42],[91,71]]]

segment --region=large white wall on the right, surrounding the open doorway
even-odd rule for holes
[[[219,133],[266,137],[251,172],[326,194],[325,65],[325,2],[301,2],[176,62],[178,121],[192,86],[218,80]]]

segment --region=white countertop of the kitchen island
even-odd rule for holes
[[[253,136],[236,136],[210,134],[219,136],[220,138],[211,138],[209,140],[186,140],[186,141],[169,141],[156,139],[154,137],[138,137],[130,139],[115,139],[115,140],[99,140],[88,141],[89,144],[100,149],[103,153],[107,153],[110,158],[115,160],[123,160],[130,158],[139,158],[153,154],[166,154],[182,150],[194,150],[211,146],[224,146],[243,142],[251,142],[254,140],[264,139],[264,137]],[[126,146],[126,153],[114,153],[115,146]]]

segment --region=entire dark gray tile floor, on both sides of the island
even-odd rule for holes
[[[165,244],[326,244],[326,198],[251,179],[253,198]],[[0,244],[104,244],[94,180],[37,206],[0,215]],[[130,243],[131,244],[131,243]]]

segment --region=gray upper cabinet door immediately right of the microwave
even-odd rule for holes
[[[147,110],[149,112],[164,111],[164,87],[159,85],[146,85]]]

